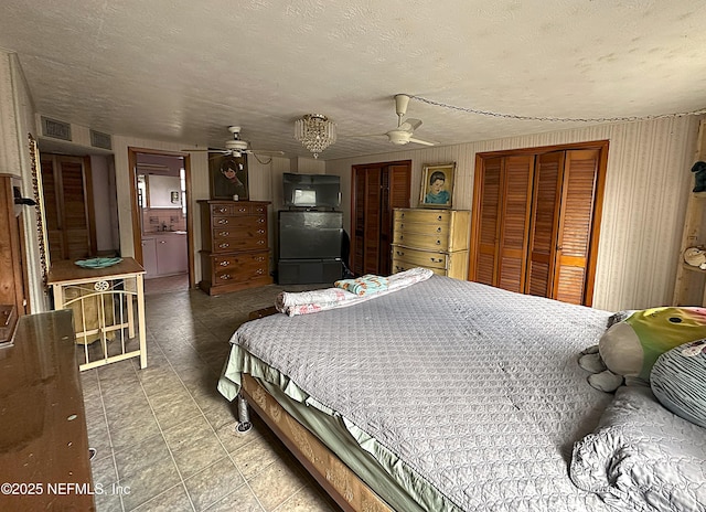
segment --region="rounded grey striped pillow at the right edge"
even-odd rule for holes
[[[660,355],[652,366],[650,385],[664,407],[706,428],[706,340]]]

